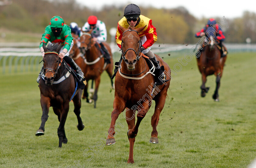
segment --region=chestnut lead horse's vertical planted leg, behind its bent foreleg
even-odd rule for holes
[[[135,116],[134,113],[131,109],[126,108],[126,122],[128,124],[128,130],[132,129],[135,125]],[[130,142],[130,151],[129,151],[129,159],[127,161],[127,163],[134,163],[133,160],[133,146],[134,146],[134,142],[135,142],[135,138],[129,138],[129,142]]]

